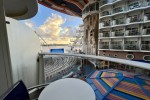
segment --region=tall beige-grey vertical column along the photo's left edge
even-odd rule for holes
[[[11,85],[11,60],[5,22],[4,2],[0,0],[0,95]]]

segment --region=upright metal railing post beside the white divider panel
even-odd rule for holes
[[[44,77],[44,55],[39,54],[39,65],[38,65],[38,84],[45,83],[45,77]]]

